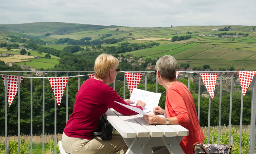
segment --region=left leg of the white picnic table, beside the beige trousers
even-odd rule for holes
[[[129,148],[126,154],[142,153],[142,150],[146,147],[148,141],[149,141],[149,138],[134,138],[131,145],[129,145]]]

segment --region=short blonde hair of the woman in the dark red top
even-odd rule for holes
[[[111,54],[100,54],[94,63],[95,77],[100,79],[106,79],[110,70],[117,69],[119,62],[118,59]]]

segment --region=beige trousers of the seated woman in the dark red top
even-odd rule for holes
[[[70,154],[124,154],[128,147],[119,134],[112,134],[112,140],[94,137],[92,140],[68,137],[63,133],[61,138],[63,149]]]

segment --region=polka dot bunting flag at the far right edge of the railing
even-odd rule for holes
[[[242,93],[243,93],[243,96],[245,97],[245,93],[248,87],[250,86],[256,71],[238,71],[238,73],[239,73]]]

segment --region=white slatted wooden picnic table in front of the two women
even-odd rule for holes
[[[152,153],[154,146],[166,146],[172,154],[184,153],[179,143],[189,132],[181,125],[149,125],[141,114],[124,116],[112,108],[104,117],[124,138],[129,147],[126,154]]]

